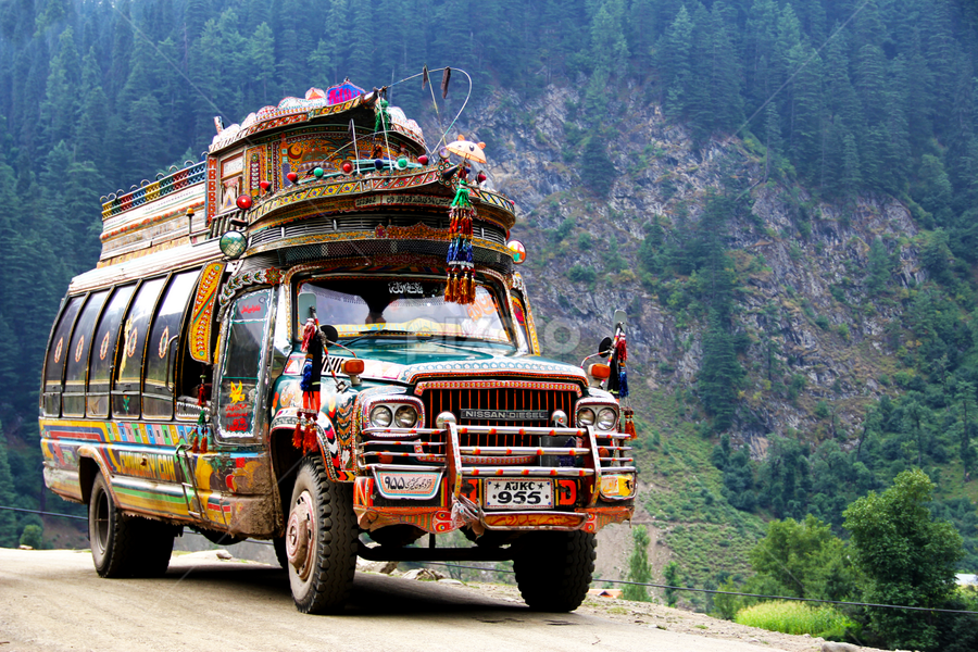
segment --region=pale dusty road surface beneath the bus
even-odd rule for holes
[[[593,606],[537,614],[514,594],[358,573],[347,612],[317,617],[296,611],[278,567],[214,552],[175,555],[163,578],[110,580],[96,575],[87,551],[0,549],[0,652],[802,649],[770,636],[752,644],[673,631],[665,620],[606,617]]]

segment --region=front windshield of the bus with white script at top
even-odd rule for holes
[[[321,324],[331,324],[340,338],[464,337],[512,343],[497,290],[478,284],[474,303],[444,300],[444,280],[391,280],[369,277],[305,281],[299,294],[313,294]],[[299,315],[297,333],[308,315]]]

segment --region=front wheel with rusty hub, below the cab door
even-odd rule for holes
[[[356,570],[353,486],[330,482],[323,461],[302,461],[286,524],[289,586],[296,607],[305,614],[342,611]]]

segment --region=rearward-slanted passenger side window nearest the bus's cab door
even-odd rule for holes
[[[185,344],[178,338],[180,322],[190,294],[197,287],[200,269],[195,269],[174,276],[163,301],[160,302],[160,308],[156,309],[146,354],[146,385],[142,388],[142,412],[147,418],[173,417],[171,388],[176,386],[176,365],[180,348]],[[167,380],[170,387],[166,386]]]

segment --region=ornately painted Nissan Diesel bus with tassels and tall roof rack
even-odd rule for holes
[[[215,118],[200,162],[103,198],[40,393],[99,575],[163,574],[191,528],[273,541],[302,612],[343,607],[358,555],[512,560],[530,607],[580,604],[632,514],[624,315],[541,358],[484,143],[427,143],[386,92]]]

